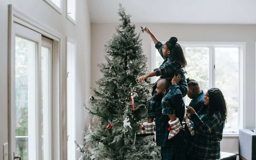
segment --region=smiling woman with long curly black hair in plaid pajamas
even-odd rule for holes
[[[218,88],[209,89],[204,96],[204,105],[196,113],[187,106],[194,122],[195,136],[189,149],[194,159],[219,159],[220,141],[224,124],[227,122],[227,106]]]

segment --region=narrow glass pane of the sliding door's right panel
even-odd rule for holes
[[[42,159],[50,158],[50,50],[42,47]]]

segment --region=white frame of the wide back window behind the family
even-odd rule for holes
[[[165,43],[164,41],[162,42]],[[239,104],[238,104],[238,130],[243,129],[245,127],[245,98],[246,98],[246,77],[245,77],[245,70],[246,70],[246,63],[245,63],[245,49],[246,45],[245,42],[179,42],[186,57],[185,47],[208,47],[210,49],[209,54],[209,69],[210,69],[210,77],[209,77],[209,86],[213,88],[215,86],[215,53],[214,48],[216,47],[238,47],[239,48]],[[256,47],[256,42],[255,42]],[[256,51],[255,51],[256,53]],[[151,71],[153,71],[156,66],[156,48],[154,42],[151,42]],[[213,55],[212,55],[213,54]],[[211,58],[212,57],[212,58]],[[186,70],[186,68],[185,68]],[[155,77],[152,77],[152,82],[154,83]],[[256,111],[255,111],[256,112]],[[256,123],[256,121],[255,121]],[[238,130],[235,133],[231,133],[229,131],[223,131],[223,137],[237,137],[239,135]]]

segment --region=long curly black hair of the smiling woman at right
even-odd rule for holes
[[[219,111],[224,124],[227,122],[227,103],[219,88],[211,88],[209,94],[209,112],[210,114]]]

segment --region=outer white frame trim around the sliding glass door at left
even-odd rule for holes
[[[9,7],[8,24],[8,159],[13,159],[15,151],[15,27],[18,23],[53,40],[52,57],[52,159],[66,159],[66,63],[62,52],[62,35],[43,23]],[[64,68],[64,69],[63,69]],[[63,107],[64,106],[64,107]],[[14,116],[13,116],[14,115]]]

